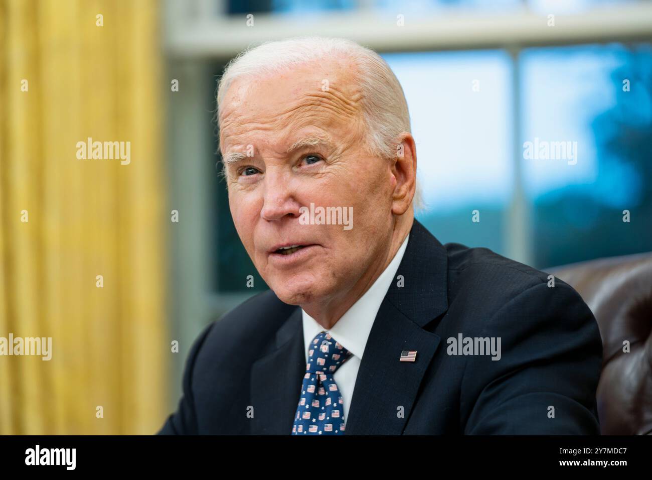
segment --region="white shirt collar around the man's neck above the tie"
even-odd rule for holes
[[[396,270],[398,270],[398,266],[408,246],[408,239],[409,234],[403,240],[392,261],[376,281],[374,281],[374,284],[342,315],[330,330],[325,330],[303,308],[301,309],[306,361],[308,357],[308,345],[310,345],[310,342],[321,331],[330,332],[333,338],[355,355],[355,357],[359,359],[363,358],[364,347],[366,346],[367,338],[369,338],[371,327],[374,325],[376,313],[378,313],[380,304],[383,302],[383,298],[387,295],[387,290],[394,280]]]

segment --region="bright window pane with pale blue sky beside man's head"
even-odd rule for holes
[[[513,173],[509,55],[486,51],[383,57],[408,99],[419,181],[430,210],[506,204]]]

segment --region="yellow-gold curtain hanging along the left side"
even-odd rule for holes
[[[51,360],[0,356],[0,434],[168,414],[158,6],[0,0],[0,337],[52,338]],[[87,138],[130,163],[78,159]]]

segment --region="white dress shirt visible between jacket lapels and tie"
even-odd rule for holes
[[[303,315],[303,341],[306,363],[308,363],[308,345],[310,345],[312,339],[319,332],[330,332],[336,342],[340,342],[344,348],[351,352],[351,357],[333,374],[333,379],[337,383],[338,389],[342,394],[342,400],[344,401],[343,413],[345,422],[348,419],[355,379],[358,375],[360,362],[363,359],[367,338],[369,338],[371,327],[374,325],[374,319],[376,319],[376,313],[378,313],[380,304],[383,302],[383,298],[385,298],[387,290],[394,280],[396,270],[398,270],[403,254],[406,251],[408,238],[409,234],[396,252],[396,255],[394,255],[392,261],[387,265],[387,268],[374,281],[374,284],[340,317],[330,330],[323,328],[314,318],[304,312],[303,308],[301,309]]]

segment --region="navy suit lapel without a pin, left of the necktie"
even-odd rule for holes
[[[306,371],[301,309],[276,332],[274,349],[252,366],[252,434],[289,435]]]

